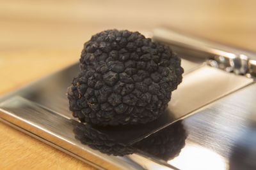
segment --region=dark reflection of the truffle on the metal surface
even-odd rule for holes
[[[187,137],[182,121],[175,122],[133,145],[118,143],[111,136],[86,124],[75,124],[74,133],[81,143],[108,155],[124,156],[132,153],[147,153],[147,155],[163,160],[177,157]],[[120,136],[123,135],[125,134],[120,134]]]

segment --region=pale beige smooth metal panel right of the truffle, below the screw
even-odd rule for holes
[[[172,93],[168,110],[179,118],[252,82],[246,76],[203,65],[184,75],[182,83]]]

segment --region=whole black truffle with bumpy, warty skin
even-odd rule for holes
[[[81,72],[68,87],[70,110],[97,125],[145,124],[166,109],[182,81],[169,46],[139,32],[108,30],[84,43]]]

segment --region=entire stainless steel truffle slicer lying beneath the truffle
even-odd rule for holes
[[[120,157],[82,144],[74,131],[80,123],[70,114],[65,95],[77,64],[1,97],[0,120],[99,169],[255,168],[256,53],[168,29],[148,33],[182,58],[183,80],[168,109],[154,122],[136,127],[87,126],[132,146],[182,120],[186,140],[183,148],[172,146],[179,149],[176,157],[163,159],[140,150]]]

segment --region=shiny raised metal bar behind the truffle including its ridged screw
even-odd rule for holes
[[[256,53],[188,35],[184,36],[179,32],[163,28],[155,29],[152,34],[155,41],[168,43],[175,52],[186,59],[207,60],[209,65],[228,72],[249,77],[256,76]]]

